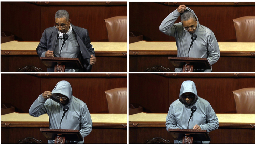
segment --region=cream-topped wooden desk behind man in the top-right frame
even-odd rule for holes
[[[254,72],[254,42],[218,42],[220,59],[212,65],[212,72]],[[129,44],[129,71],[145,72],[158,68],[174,72],[168,57],[177,57],[176,42],[139,41]],[[158,66],[158,67],[156,67]]]

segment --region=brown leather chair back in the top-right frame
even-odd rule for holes
[[[255,16],[233,19],[237,42],[255,42]]]

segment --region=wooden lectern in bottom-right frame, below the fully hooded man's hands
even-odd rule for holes
[[[168,132],[175,140],[182,140],[185,144],[191,144],[193,141],[211,141],[207,130],[168,129]]]

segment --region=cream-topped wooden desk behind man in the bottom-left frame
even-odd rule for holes
[[[93,129],[84,143],[127,143],[126,114],[91,114]],[[32,117],[28,113],[10,113],[1,116],[1,144],[18,143],[34,137],[47,143],[40,128],[49,128],[47,114]]]

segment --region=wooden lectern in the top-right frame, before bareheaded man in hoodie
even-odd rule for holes
[[[174,68],[182,68],[183,72],[193,72],[193,69],[211,69],[207,58],[169,57]]]

